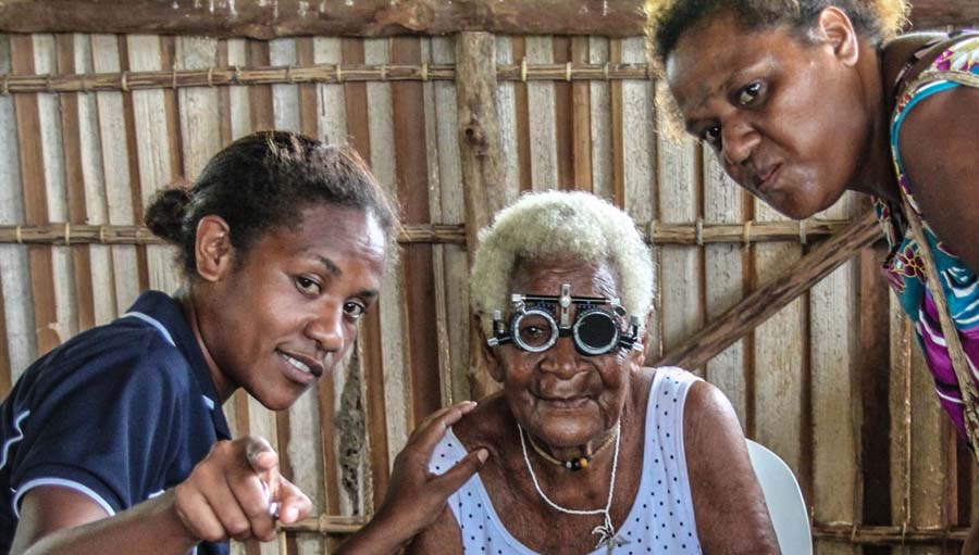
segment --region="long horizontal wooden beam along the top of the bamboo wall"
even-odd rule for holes
[[[0,0],[0,30],[287,36],[643,34],[643,0]],[[916,0],[916,28],[979,22],[974,0]]]

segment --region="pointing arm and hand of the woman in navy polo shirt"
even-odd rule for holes
[[[185,555],[201,541],[269,541],[275,537],[271,501],[278,501],[286,524],[312,510],[309,499],[278,476],[278,457],[268,442],[222,441],[186,481],[112,517],[74,490],[48,485],[29,491],[11,555],[102,554],[119,545],[135,555]]]

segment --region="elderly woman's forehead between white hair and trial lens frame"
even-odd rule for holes
[[[521,260],[510,274],[510,292],[557,295],[561,285],[574,297],[618,297],[618,280],[607,262],[585,263],[573,258]]]

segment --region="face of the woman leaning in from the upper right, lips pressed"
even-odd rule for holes
[[[680,37],[667,80],[686,129],[728,175],[805,218],[843,194],[869,141],[863,89],[841,52],[784,27],[745,30],[720,13]]]

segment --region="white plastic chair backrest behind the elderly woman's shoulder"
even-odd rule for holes
[[[752,440],[746,441],[782,554],[813,555],[809,515],[795,475],[778,455]]]

